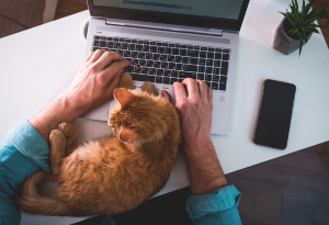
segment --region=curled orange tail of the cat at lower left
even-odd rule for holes
[[[23,185],[22,195],[16,201],[22,212],[42,215],[67,215],[69,209],[57,196],[39,195],[36,184],[45,181],[55,181],[53,175],[37,171],[30,176]]]

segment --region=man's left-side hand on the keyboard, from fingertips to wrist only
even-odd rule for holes
[[[128,65],[129,61],[123,60],[118,53],[92,52],[80,66],[65,95],[82,113],[95,108],[112,97],[120,75]]]

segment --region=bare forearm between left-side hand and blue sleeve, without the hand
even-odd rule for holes
[[[86,110],[76,106],[72,103],[71,97],[61,94],[46,109],[29,120],[29,122],[47,142],[49,142],[52,130],[57,128],[61,122],[72,123],[84,112]]]

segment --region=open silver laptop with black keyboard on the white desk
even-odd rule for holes
[[[88,0],[86,57],[117,52],[134,87],[145,81],[170,93],[172,83],[200,79],[213,89],[212,134],[228,135],[239,31],[249,0]],[[81,117],[107,121],[114,98]]]

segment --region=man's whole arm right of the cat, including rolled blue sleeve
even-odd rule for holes
[[[240,193],[228,185],[211,138],[213,90],[190,78],[174,82],[173,88],[193,194],[186,211],[194,224],[241,224]]]

